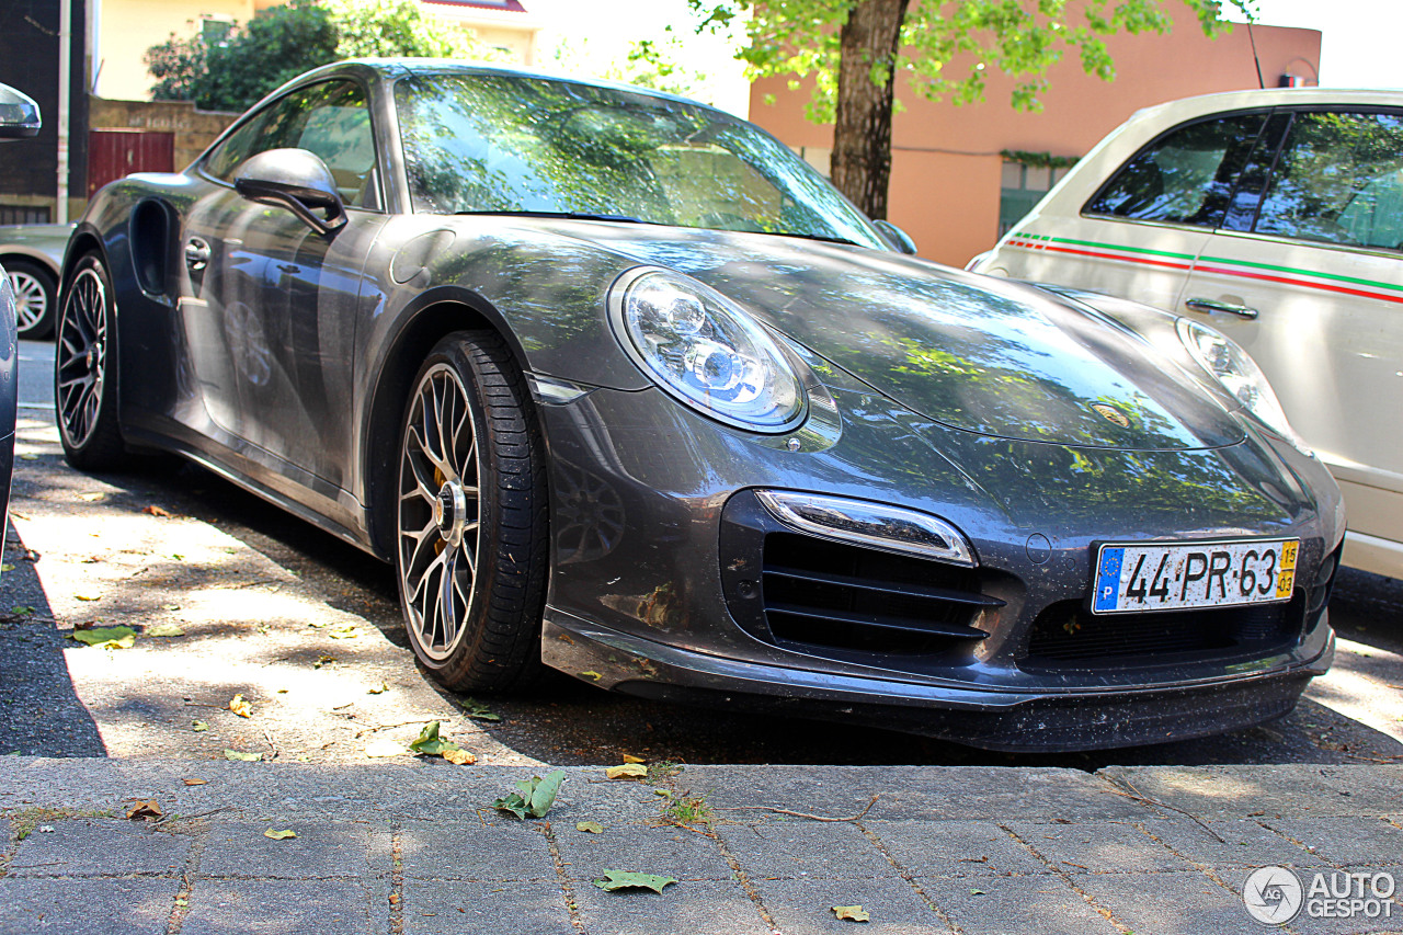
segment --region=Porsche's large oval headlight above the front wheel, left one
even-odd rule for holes
[[[666,270],[631,270],[610,289],[609,309],[634,362],[687,406],[758,432],[804,421],[804,386],[788,355],[716,289]]]

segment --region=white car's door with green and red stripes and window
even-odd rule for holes
[[[1260,199],[1204,244],[1177,307],[1257,361],[1340,482],[1351,532],[1397,542],[1403,111],[1287,108],[1274,122],[1284,143],[1254,157],[1274,166]]]

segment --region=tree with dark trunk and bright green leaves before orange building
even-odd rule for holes
[[[1225,4],[1253,14],[1253,0],[1167,1],[1191,8],[1207,35],[1226,28],[1219,15]],[[689,3],[711,28],[748,17],[745,44],[737,58],[746,63],[752,79],[790,76],[793,88],[798,88],[800,79],[814,79],[807,115],[815,122],[836,124],[835,183],[873,216],[885,215],[898,74],[908,79],[905,87],[922,97],[967,104],[984,98],[988,76],[998,70],[1014,79],[1013,107],[1038,110],[1048,70],[1068,55],[1075,55],[1089,74],[1111,80],[1115,63],[1107,37],[1163,34],[1172,25],[1166,0]],[[864,83],[868,87],[860,87]],[[854,114],[854,108],[863,112]],[[857,135],[867,139],[853,139]]]

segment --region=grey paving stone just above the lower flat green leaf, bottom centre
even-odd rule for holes
[[[603,872],[654,868],[679,880],[731,880],[735,873],[717,842],[682,828],[610,824],[600,834],[575,825],[554,824],[556,842],[565,872],[575,880],[596,880]]]

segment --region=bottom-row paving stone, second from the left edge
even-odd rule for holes
[[[361,880],[199,880],[181,935],[382,935],[390,886]]]

